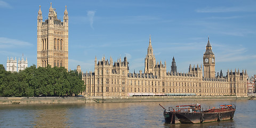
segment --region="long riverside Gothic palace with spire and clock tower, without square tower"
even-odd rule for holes
[[[207,59],[208,60],[207,60]],[[202,65],[189,66],[188,73],[177,73],[173,58],[171,72],[166,72],[166,62],[156,63],[151,39],[145,58],[144,73],[129,73],[129,62],[119,58],[116,62],[110,57],[103,57],[97,62],[95,57],[94,73],[83,74],[86,90],[83,93],[89,97],[127,97],[129,93],[194,93],[196,95],[236,95],[244,97],[246,91],[246,70],[227,71],[224,77],[215,76],[215,57],[208,39]]]

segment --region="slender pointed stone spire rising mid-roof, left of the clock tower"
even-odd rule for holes
[[[149,35],[148,52],[145,58],[145,74],[153,74],[154,66],[156,65],[155,55],[153,54],[153,48],[151,45],[151,37]]]

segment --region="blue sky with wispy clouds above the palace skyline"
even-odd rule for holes
[[[0,0],[0,63],[7,57],[28,59],[36,65],[37,14],[43,20],[50,2],[63,21],[69,16],[69,69],[81,65],[94,71],[94,58],[114,61],[126,56],[130,72],[144,70],[149,35],[157,61],[178,71],[203,64],[210,36],[215,70],[223,74],[247,69],[256,74],[256,1],[18,1]]]

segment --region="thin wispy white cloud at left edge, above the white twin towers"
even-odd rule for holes
[[[20,47],[20,46],[31,46],[32,44],[24,41],[19,41],[18,39],[11,39],[0,37],[0,47],[3,49],[7,47]]]

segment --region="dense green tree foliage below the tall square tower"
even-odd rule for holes
[[[0,65],[0,97],[73,96],[84,90],[82,74],[76,70],[33,65],[11,73]]]

